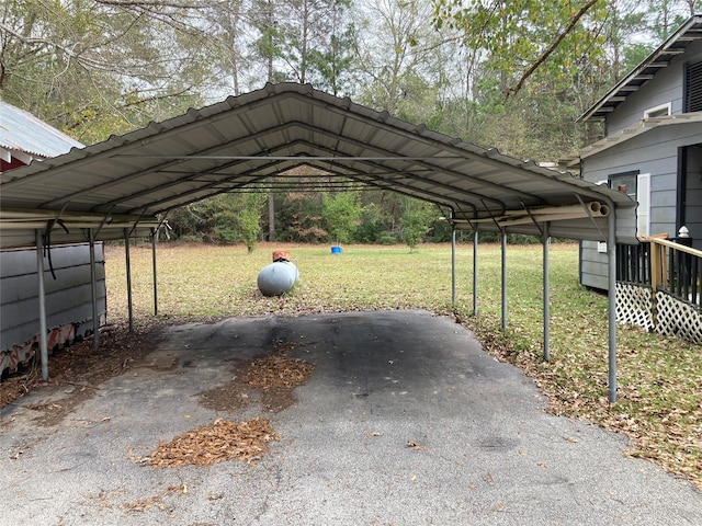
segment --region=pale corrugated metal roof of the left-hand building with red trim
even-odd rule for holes
[[[31,113],[0,101],[0,148],[46,159],[83,145],[36,118]]]

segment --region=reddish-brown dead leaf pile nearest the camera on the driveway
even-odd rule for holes
[[[227,460],[254,464],[280,436],[268,420],[256,418],[245,422],[215,420],[210,425],[191,430],[169,443],[159,444],[140,464],[154,468],[210,466]]]

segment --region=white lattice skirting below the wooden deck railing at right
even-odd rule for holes
[[[666,294],[656,291],[654,301],[649,287],[629,283],[616,284],[616,321],[633,323],[649,331],[679,336],[702,345],[702,310]],[[654,321],[655,320],[655,321]]]

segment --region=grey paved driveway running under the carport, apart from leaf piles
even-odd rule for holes
[[[309,381],[278,398],[237,384],[272,352],[315,364]],[[3,413],[0,524],[702,524],[690,483],[624,456],[622,436],[546,414],[519,369],[423,311],[173,327],[97,391],[49,427]],[[217,392],[231,403],[205,403]],[[256,464],[138,461],[217,418],[256,416],[280,436]]]

